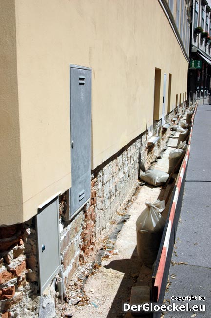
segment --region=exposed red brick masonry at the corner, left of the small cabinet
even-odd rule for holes
[[[36,232],[32,220],[0,228],[2,317],[38,317]],[[31,297],[34,295],[34,297]]]

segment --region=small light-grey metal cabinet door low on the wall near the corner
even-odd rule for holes
[[[59,207],[58,199],[47,204],[36,216],[40,293],[59,272]]]

